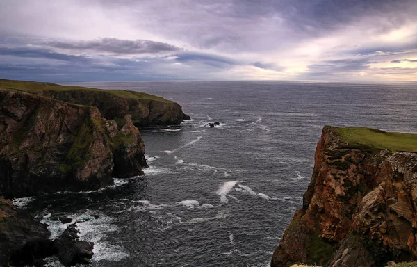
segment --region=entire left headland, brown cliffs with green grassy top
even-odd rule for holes
[[[179,104],[141,92],[0,80],[0,195],[94,190],[141,175],[136,126],[183,116]]]

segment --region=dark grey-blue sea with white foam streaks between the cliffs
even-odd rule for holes
[[[141,131],[145,176],[28,202],[54,236],[66,227],[54,217],[90,218],[79,228],[95,242],[92,266],[268,266],[302,204],[324,125],[417,132],[416,84],[76,85],[160,95],[193,118],[179,131]],[[215,121],[220,127],[206,127]]]

